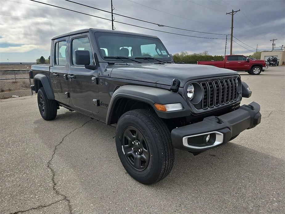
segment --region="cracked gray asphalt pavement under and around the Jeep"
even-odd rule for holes
[[[171,173],[146,186],[122,167],[115,128],[36,96],[0,100],[0,213],[284,213],[285,66],[241,72],[262,120],[197,156],[175,150]]]

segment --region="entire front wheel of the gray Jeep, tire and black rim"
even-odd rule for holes
[[[156,183],[172,169],[174,149],[169,129],[149,110],[135,109],[120,117],[116,148],[125,170],[140,183]]]

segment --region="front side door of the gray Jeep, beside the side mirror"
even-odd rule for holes
[[[88,34],[81,34],[69,37],[70,57],[68,60],[68,90],[72,103],[90,113],[98,113],[98,85],[94,78],[97,77],[97,70],[89,70],[84,65],[75,64],[75,50],[87,50],[90,54],[90,65],[95,63],[94,52],[92,51]],[[95,100],[95,101],[94,101]]]

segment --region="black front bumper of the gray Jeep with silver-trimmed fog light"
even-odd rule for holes
[[[233,112],[218,117],[206,117],[201,122],[173,129],[171,132],[172,144],[177,149],[190,152],[214,148],[230,141],[232,137],[242,131],[257,126],[261,121],[259,111],[260,105],[252,102],[249,105],[242,105]],[[210,139],[214,139],[209,141],[210,145],[201,142],[206,139],[203,136],[206,137],[208,134],[211,136]]]

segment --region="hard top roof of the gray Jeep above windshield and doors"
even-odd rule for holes
[[[61,34],[58,36],[53,37],[51,40],[54,39],[59,39],[61,37],[66,37],[70,35],[75,35],[75,34],[81,34],[81,33],[87,33],[87,32],[105,32],[105,33],[121,33],[121,34],[128,34],[128,35],[137,35],[137,36],[147,36],[147,37],[153,37],[153,38],[158,38],[157,36],[152,36],[152,35],[147,35],[147,34],[140,34],[140,33],[132,33],[132,32],[126,32],[126,31],[113,31],[113,30],[105,30],[105,29],[97,29],[97,28],[86,28],[78,31],[71,31],[69,33]]]

